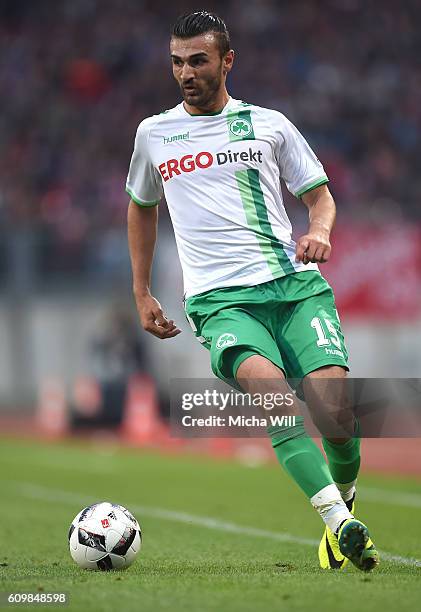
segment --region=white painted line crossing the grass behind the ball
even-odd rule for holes
[[[61,502],[65,504],[78,504],[80,506],[86,506],[89,503],[98,501],[97,499],[94,500],[93,498],[89,498],[89,496],[83,495],[82,493],[70,493],[68,491],[48,489],[47,487],[40,487],[30,483],[15,483],[15,486],[16,489],[18,489],[18,491],[20,491],[25,497],[53,503]],[[276,531],[268,531],[258,527],[247,527],[208,516],[198,516],[187,512],[177,512],[174,510],[166,510],[163,508],[154,508],[150,506],[138,506],[137,504],[128,504],[128,506],[134,513],[141,516],[148,516],[150,518],[165,521],[174,521],[177,523],[185,523],[188,525],[197,525],[198,527],[205,527],[207,529],[214,529],[216,531],[265,538],[276,542],[302,544],[305,546],[317,546],[319,543],[318,540],[313,540],[311,538],[301,538],[290,533],[277,533]],[[409,565],[412,567],[421,567],[420,559],[401,557],[399,555],[393,555],[384,551],[380,551],[380,554],[383,559],[391,561],[392,563]]]

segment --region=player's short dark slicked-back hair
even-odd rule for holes
[[[193,38],[199,34],[215,32],[218,38],[219,53],[223,57],[231,48],[230,35],[223,19],[214,13],[196,11],[185,13],[175,22],[171,36],[175,38]]]

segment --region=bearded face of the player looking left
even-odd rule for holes
[[[218,40],[211,32],[170,43],[174,78],[184,101],[198,108],[210,106],[225,85],[231,69],[233,52],[221,58]]]

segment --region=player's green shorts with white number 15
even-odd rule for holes
[[[232,384],[249,356],[266,357],[287,378],[339,365],[348,353],[332,288],[317,270],[253,287],[212,289],[186,300],[187,319],[210,350],[213,373]]]

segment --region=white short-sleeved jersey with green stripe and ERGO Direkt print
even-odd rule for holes
[[[189,297],[317,270],[295,262],[281,179],[297,197],[328,181],[284,115],[230,98],[217,114],[181,103],[142,121],[126,191],[140,206],[165,194]]]

